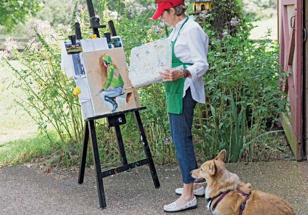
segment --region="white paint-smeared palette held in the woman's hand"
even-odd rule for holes
[[[171,68],[169,38],[137,46],[131,51],[128,77],[134,87],[162,81],[159,72]]]

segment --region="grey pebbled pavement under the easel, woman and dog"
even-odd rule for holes
[[[308,162],[255,162],[227,164],[253,189],[270,192],[308,214]],[[87,169],[83,184],[78,172],[43,173],[26,166],[0,169],[0,214],[166,214],[163,205],[175,201],[181,186],[177,166],[156,166],[161,187],[155,189],[148,166],[104,178],[107,208],[99,209],[94,170]],[[176,214],[210,214],[206,201],[198,208]]]

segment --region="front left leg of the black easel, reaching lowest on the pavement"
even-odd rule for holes
[[[105,192],[104,192],[104,186],[103,186],[102,170],[100,168],[99,152],[98,152],[98,147],[97,147],[94,120],[89,120],[88,125],[89,125],[89,132],[91,134],[90,139],[91,139],[91,144],[92,144],[92,153],[93,153],[93,161],[94,161],[95,176],[96,176],[96,186],[97,186],[97,191],[99,195],[99,206],[101,208],[105,208],[106,199],[105,199]]]

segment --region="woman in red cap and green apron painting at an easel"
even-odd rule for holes
[[[167,111],[171,138],[180,165],[183,188],[175,202],[164,205],[164,211],[175,212],[197,207],[196,196],[204,196],[203,186],[194,186],[190,171],[197,169],[197,161],[191,133],[193,111],[197,102],[205,103],[202,75],[209,68],[207,52],[209,37],[193,16],[186,16],[184,0],[156,0],[156,12],[152,19],[161,18],[172,25],[169,38],[172,41],[172,68],[160,72],[166,88]],[[174,69],[183,65],[184,69]]]

